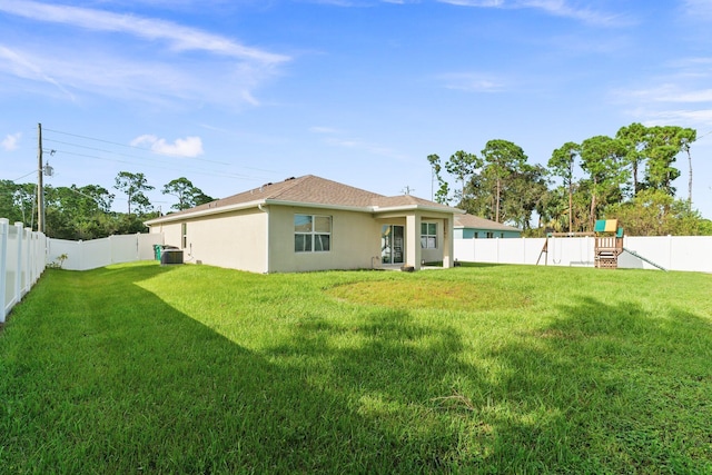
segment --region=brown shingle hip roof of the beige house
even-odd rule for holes
[[[426,207],[429,209],[443,209],[444,211],[462,212],[456,208],[439,205],[426,199],[416,198],[411,195],[387,197],[376,192],[366,191],[338,181],[327,180],[314,175],[305,175],[298,178],[287,178],[284,181],[274,184],[265,184],[258,188],[243,191],[227,198],[218,199],[206,205],[200,205],[191,209],[174,212],[164,218],[171,219],[192,215],[196,212],[216,210],[219,208],[235,207],[239,205],[249,206],[249,204],[269,204],[269,202],[293,202],[304,205],[323,205],[335,207],[354,207],[354,208],[403,208],[403,207]],[[157,222],[161,218],[151,219],[147,222]]]

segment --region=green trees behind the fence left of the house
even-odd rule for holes
[[[155,187],[144,174],[121,171],[115,178],[113,189],[126,196],[127,212],[112,210],[116,195],[100,185],[43,188],[46,234],[57,239],[89,240],[145,232],[144,221],[160,216],[146,196]],[[164,185],[161,192],[178,200],[172,210],[214,200],[185,177]],[[37,185],[0,180],[0,217],[37,229]]]

